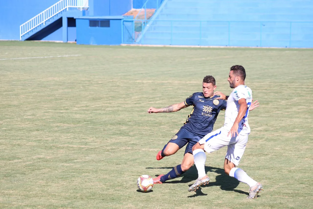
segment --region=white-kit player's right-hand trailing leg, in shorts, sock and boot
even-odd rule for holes
[[[238,142],[228,145],[227,153],[224,161],[224,171],[231,177],[248,184],[250,187],[249,190],[249,199],[256,198],[258,193],[263,190],[263,187],[260,183],[253,180],[244,170],[236,167],[238,166],[240,159],[244,154],[244,150],[248,141],[248,136],[239,135]]]

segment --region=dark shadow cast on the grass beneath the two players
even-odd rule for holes
[[[157,167],[157,168],[151,168],[148,167],[146,169],[172,169],[172,167]],[[201,186],[197,191],[196,194],[193,194],[192,196],[188,197],[196,197],[196,196],[205,196],[207,194],[204,194],[201,189],[205,187],[210,187],[210,186],[219,186],[221,190],[225,191],[234,191],[238,192],[240,194],[246,194],[249,195],[248,192],[244,192],[241,190],[235,190],[235,188],[239,185],[239,181],[234,179],[233,177],[228,176],[227,174],[224,173],[224,169],[221,168],[215,168],[211,166],[205,166],[205,172],[210,176],[210,172],[215,172],[219,174],[216,176],[216,181],[215,182],[210,182],[208,185]],[[165,172],[164,172],[165,173]],[[158,176],[158,175],[156,175]],[[196,180],[198,177],[198,171],[195,165],[193,165],[189,170],[187,170],[184,174],[182,174],[180,177],[182,177],[181,180],[172,180],[172,181],[166,181],[163,184],[177,184],[177,183],[188,183],[190,181]],[[191,186],[192,184],[188,185]],[[186,190],[188,188],[186,187]]]

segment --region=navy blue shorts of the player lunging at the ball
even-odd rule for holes
[[[203,135],[196,135],[195,133],[188,131],[186,128],[181,128],[169,142],[177,144],[179,149],[187,144],[185,154],[192,154],[193,145],[199,142],[203,137]]]

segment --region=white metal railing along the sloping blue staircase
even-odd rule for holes
[[[89,7],[89,0],[60,0],[48,9],[37,14],[32,19],[26,21],[20,25],[20,40],[22,36],[36,28],[37,26],[46,23],[46,21],[52,18],[54,15],[62,12],[63,10],[69,10],[69,8],[76,8],[83,10]]]

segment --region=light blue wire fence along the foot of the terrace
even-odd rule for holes
[[[154,19],[124,20],[124,25],[132,34],[125,38],[128,44],[313,48],[313,22]]]

